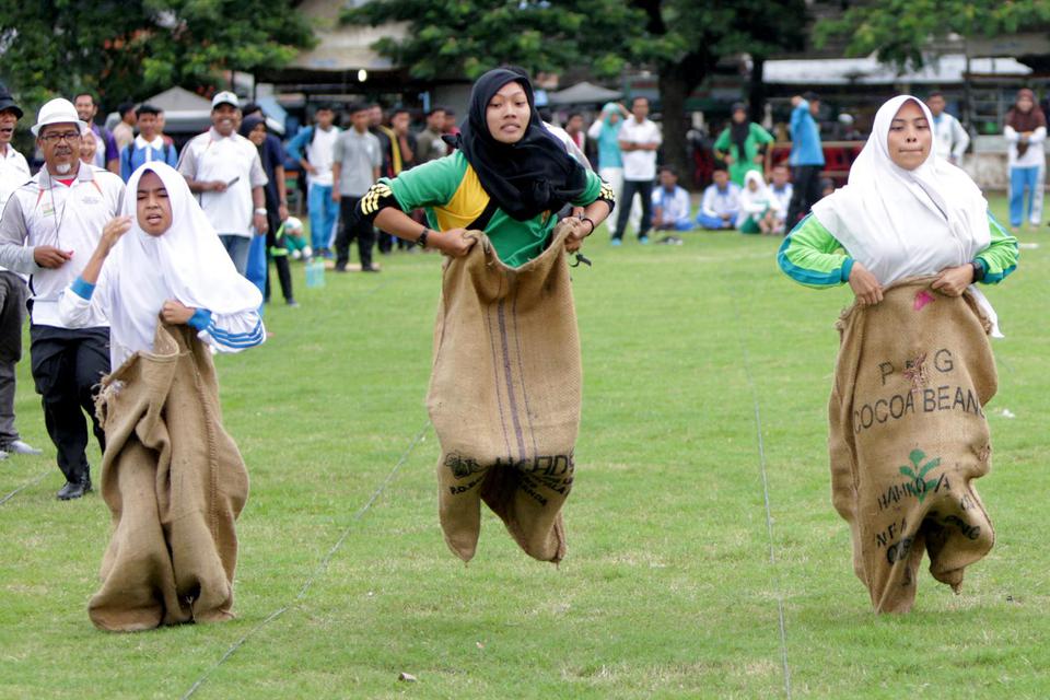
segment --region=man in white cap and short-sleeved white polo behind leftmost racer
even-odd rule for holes
[[[211,100],[211,129],[194,137],[178,161],[178,172],[197,192],[234,267],[244,275],[253,235],[266,233],[269,182],[258,149],[237,133],[241,105],[232,92]],[[254,231],[253,231],[254,229]]]

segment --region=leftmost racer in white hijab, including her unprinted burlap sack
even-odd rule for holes
[[[117,368],[97,405],[114,532],[89,615],[120,631],[225,620],[248,476],[222,428],[211,348],[262,342],[262,298],[175,168],[147,163],[124,201],[59,299],[70,327],[92,310],[109,319]]]

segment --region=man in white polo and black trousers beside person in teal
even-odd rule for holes
[[[656,178],[656,149],[663,137],[660,128],[648,119],[649,100],[634,97],[631,118],[623,121],[619,132],[620,152],[623,154],[623,200],[616,221],[612,245],[620,245],[634,195],[642,198],[642,221],[638,226],[638,242],[649,243],[652,224],[653,180]]]

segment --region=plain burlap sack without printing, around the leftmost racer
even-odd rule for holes
[[[153,353],[104,380],[97,410],[114,532],[92,622],[135,631],[232,618],[248,475],[222,428],[211,352],[191,329],[160,324]]]

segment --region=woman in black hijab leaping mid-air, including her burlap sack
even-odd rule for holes
[[[460,128],[454,154],[381,179],[358,213],[451,258],[427,399],[445,541],[474,557],[483,500],[528,555],[558,562],[582,381],[565,253],[612,192],[545,129],[522,72],[482,75]],[[556,228],[567,205],[582,213]],[[428,226],[406,213],[416,208]]]

